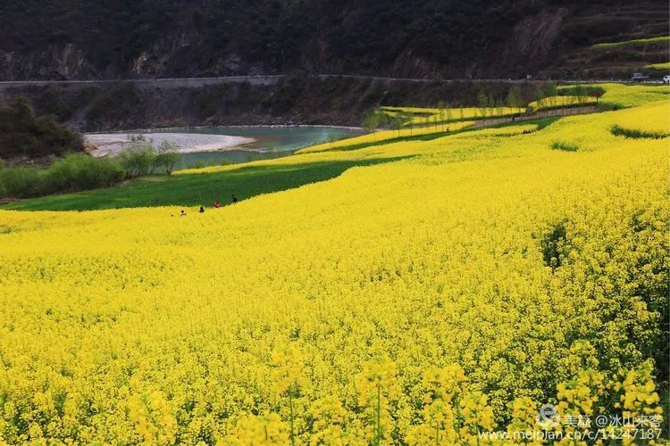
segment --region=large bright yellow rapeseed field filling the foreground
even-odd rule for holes
[[[0,211],[0,443],[657,433],[668,138],[611,128],[667,90],[607,89],[637,107],[259,161],[406,157],[204,214]]]

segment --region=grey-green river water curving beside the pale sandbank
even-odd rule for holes
[[[192,166],[211,166],[234,164],[239,162],[268,160],[290,155],[298,149],[327,143],[332,140],[362,133],[353,128],[329,127],[217,127],[217,128],[180,128],[164,130],[170,133],[189,133],[204,135],[245,136],[255,142],[219,152],[184,153],[181,156],[180,169]],[[161,130],[152,130],[159,133]]]

